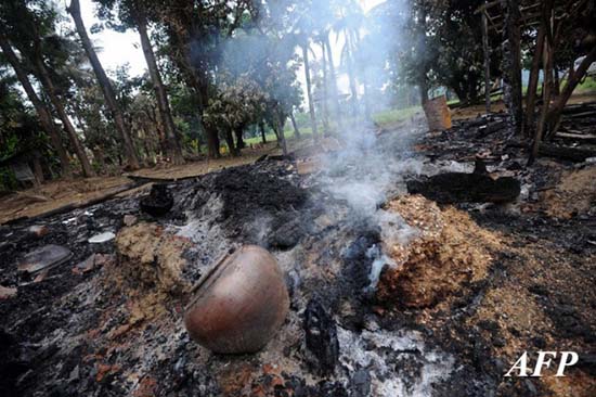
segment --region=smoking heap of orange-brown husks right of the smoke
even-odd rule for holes
[[[425,308],[453,296],[488,274],[489,249],[500,247],[498,236],[480,229],[454,208],[439,209],[419,195],[387,204],[419,233],[403,246],[386,247],[393,266],[380,273],[377,299],[388,306]]]

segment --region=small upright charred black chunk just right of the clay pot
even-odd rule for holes
[[[339,359],[337,326],[316,297],[307,305],[303,326],[307,349],[314,356],[312,363],[316,371],[321,374],[332,374]]]

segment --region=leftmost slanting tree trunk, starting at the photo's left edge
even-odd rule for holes
[[[46,107],[46,104],[41,102],[39,97],[37,97],[37,93],[35,92],[31,86],[31,82],[29,81],[27,73],[21,66],[21,63],[18,62],[18,59],[16,57],[16,54],[12,50],[8,39],[1,34],[0,34],[0,48],[2,49],[4,56],[13,67],[16,74],[16,77],[18,78],[18,81],[21,82],[21,85],[23,86],[23,89],[25,90],[25,93],[27,94],[27,98],[34,104],[34,107],[39,117],[41,127],[50,136],[52,146],[54,146],[54,150],[56,151],[60,158],[62,176],[64,178],[72,178],[73,170],[70,169],[70,161],[68,159],[68,154],[66,153],[66,150],[62,144],[62,139],[60,137],[60,132],[56,126],[54,125],[52,114],[50,113],[48,107]]]

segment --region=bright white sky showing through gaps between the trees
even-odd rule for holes
[[[59,0],[64,2],[65,0]],[[367,12],[377,4],[384,2],[385,0],[360,0],[360,3],[364,10]],[[95,3],[92,0],[80,0],[81,15],[85,22],[85,26],[89,31],[93,24],[99,23],[100,21],[95,17]],[[74,28],[74,24],[72,26]],[[143,51],[141,49],[141,42],[139,40],[139,35],[134,30],[128,30],[126,33],[117,33],[111,29],[104,29],[98,34],[91,34],[89,31],[91,40],[93,43],[101,48],[102,50],[98,53],[100,61],[103,66],[108,71],[114,71],[118,66],[124,64],[129,64],[130,75],[139,76],[145,73],[146,63],[143,56]],[[337,46],[339,47],[339,46]],[[339,51],[339,49],[338,49]],[[339,57],[337,51],[334,51],[334,57]],[[336,61],[337,63],[337,61]],[[301,73],[303,75],[303,73]],[[340,78],[341,80],[341,78]],[[340,86],[344,86],[341,84]],[[341,88],[341,87],[340,87]]]

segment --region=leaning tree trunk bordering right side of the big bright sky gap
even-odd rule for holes
[[[163,120],[164,129],[166,131],[166,140],[168,142],[168,155],[172,159],[173,164],[184,164],[184,157],[182,156],[182,146],[180,145],[176,125],[173,124],[170,104],[168,101],[168,94],[166,92],[166,88],[164,87],[164,81],[161,80],[161,75],[159,74],[157,62],[155,61],[155,54],[153,52],[153,48],[148,38],[146,17],[143,14],[143,11],[139,10],[134,14],[134,18],[137,21],[139,36],[141,37],[141,47],[143,48],[143,54],[145,55],[145,61],[147,63],[151,81],[153,82],[155,98],[157,99],[157,110]]]

